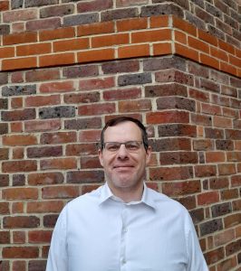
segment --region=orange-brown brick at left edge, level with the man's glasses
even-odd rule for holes
[[[4,135],[4,145],[36,145],[37,138],[35,135]]]

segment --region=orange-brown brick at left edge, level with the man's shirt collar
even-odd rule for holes
[[[37,188],[8,188],[3,190],[3,199],[11,200],[36,200],[38,198]]]

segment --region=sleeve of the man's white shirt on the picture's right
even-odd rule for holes
[[[199,245],[198,235],[189,214],[186,218],[186,241],[188,249],[187,271],[208,271],[207,263]]]

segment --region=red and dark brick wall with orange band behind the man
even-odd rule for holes
[[[44,270],[118,115],[148,126],[148,184],[188,208],[210,270],[240,270],[238,1],[62,3],[0,1],[0,270]]]

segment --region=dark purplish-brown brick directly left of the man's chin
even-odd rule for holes
[[[68,183],[103,182],[103,171],[73,171],[67,173]]]

